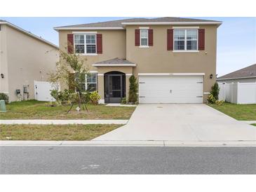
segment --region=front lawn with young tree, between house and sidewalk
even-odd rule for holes
[[[0,119],[129,119],[135,107],[106,107],[104,104],[87,104],[88,112],[76,111],[75,105],[67,114],[67,106],[49,107],[48,102],[29,100],[6,104],[7,112]]]

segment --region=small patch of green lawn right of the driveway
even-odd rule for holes
[[[222,111],[240,121],[256,121],[256,104],[231,104],[224,103],[221,106],[217,104],[208,104],[210,107]]]

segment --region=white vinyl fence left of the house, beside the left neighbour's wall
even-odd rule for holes
[[[60,90],[60,85],[57,87]],[[50,95],[50,90],[55,89],[55,86],[48,81],[34,81],[34,98],[43,102],[55,102],[55,99]]]

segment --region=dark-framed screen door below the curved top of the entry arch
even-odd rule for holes
[[[124,96],[122,75],[108,74],[105,81],[105,102],[120,103]]]

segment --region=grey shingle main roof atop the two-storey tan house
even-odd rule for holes
[[[190,18],[133,18],[126,20],[112,20],[107,22],[94,22],[81,25],[67,25],[55,28],[65,28],[65,27],[123,27],[122,22],[218,22],[215,20],[200,20],[200,19],[190,19]]]

